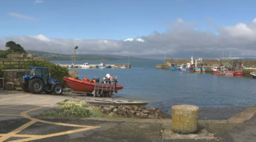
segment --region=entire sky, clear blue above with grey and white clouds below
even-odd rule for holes
[[[0,1],[0,49],[187,59],[256,54],[252,0],[6,0]],[[137,40],[123,41],[127,38]],[[140,38],[140,40],[138,40]],[[142,39],[142,40],[141,40]]]

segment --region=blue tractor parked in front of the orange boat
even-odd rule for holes
[[[51,78],[51,71],[47,68],[29,66],[28,71],[28,75],[22,77],[21,87],[23,91],[33,94],[40,94],[42,91],[46,94],[62,94],[63,89],[60,82]]]

